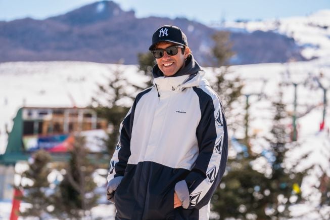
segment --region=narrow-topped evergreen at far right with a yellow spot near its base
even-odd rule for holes
[[[295,172],[295,169],[286,168],[286,154],[292,146],[297,146],[290,143],[290,134],[286,128],[289,115],[286,105],[282,102],[282,92],[278,95],[278,101],[273,102],[273,106],[275,114],[270,130],[271,138],[266,139],[272,155],[272,174],[268,181],[270,188],[266,208],[269,210],[269,216],[290,217],[289,207],[302,200],[300,186],[306,172]]]

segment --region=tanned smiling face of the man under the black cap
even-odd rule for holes
[[[175,45],[170,42],[161,42],[156,46],[156,49],[165,49],[170,46]],[[189,49],[185,48],[184,53],[182,54],[182,49],[178,48],[178,52],[174,56],[170,56],[164,51],[164,56],[161,58],[156,58],[159,69],[164,73],[165,76],[174,75],[184,64],[184,60],[188,56]]]

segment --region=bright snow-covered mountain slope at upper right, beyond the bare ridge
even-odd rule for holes
[[[306,17],[225,22],[216,28],[236,32],[273,31],[292,37],[303,48],[301,54],[306,59],[330,55],[330,10],[322,10]]]

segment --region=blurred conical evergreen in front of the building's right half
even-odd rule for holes
[[[64,179],[57,191],[54,215],[60,219],[90,216],[90,209],[98,204],[99,195],[94,192],[97,185],[92,178],[96,167],[87,154],[84,137],[76,136]]]

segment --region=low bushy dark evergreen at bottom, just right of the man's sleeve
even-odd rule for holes
[[[212,210],[219,219],[228,217],[247,219],[266,219],[264,208],[269,182],[264,173],[252,168],[254,157],[247,150],[237,153],[227,162],[227,169],[221,180],[220,188],[211,199]]]

